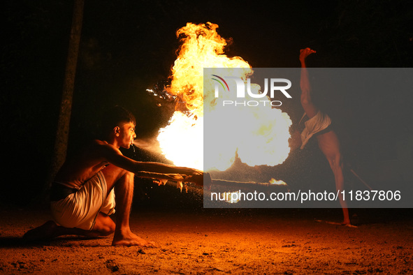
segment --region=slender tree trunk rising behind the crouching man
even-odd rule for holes
[[[75,86],[76,65],[78,63],[80,34],[82,31],[84,2],[84,0],[74,1],[71,35],[68,44],[68,55],[66,60],[63,90],[61,93],[59,119],[57,121],[55,150],[52,163],[50,165],[48,178],[46,179],[45,188],[43,190],[43,202],[48,202],[52,181],[66,159],[68,132],[73,102],[73,89]]]

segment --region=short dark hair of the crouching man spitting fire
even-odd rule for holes
[[[116,105],[108,109],[101,118],[101,138],[107,138],[112,133],[113,128],[122,123],[133,122],[136,124],[135,116],[124,107]]]

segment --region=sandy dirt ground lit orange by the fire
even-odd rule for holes
[[[46,209],[3,207],[3,274],[412,274],[411,210],[353,209],[357,228],[333,225],[340,209],[146,207],[131,228],[154,248],[66,236],[25,243]],[[322,221],[317,221],[322,220]]]

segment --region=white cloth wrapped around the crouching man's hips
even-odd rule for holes
[[[65,228],[92,230],[99,212],[115,213],[115,192],[108,190],[106,179],[100,171],[89,179],[79,191],[57,202],[50,202],[52,216],[56,223]]]

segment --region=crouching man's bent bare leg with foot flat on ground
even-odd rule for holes
[[[117,221],[115,235],[113,236],[113,246],[153,246],[154,243],[145,241],[131,232],[129,227],[129,215],[131,214],[131,205],[133,199],[133,177],[134,174],[126,172],[114,165],[109,165],[103,170],[108,184],[113,186],[113,179],[117,179],[115,184]],[[119,175],[122,177],[119,178]]]

